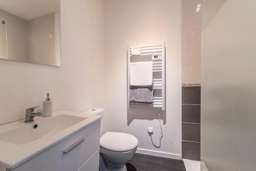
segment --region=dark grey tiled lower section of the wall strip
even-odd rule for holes
[[[201,87],[182,87],[182,158],[200,161]]]

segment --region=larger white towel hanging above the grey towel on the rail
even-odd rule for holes
[[[130,63],[130,86],[152,86],[153,62]]]

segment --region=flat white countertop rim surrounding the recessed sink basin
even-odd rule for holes
[[[0,165],[8,169],[13,169],[101,118],[101,116],[99,115],[88,115],[83,113],[61,110],[53,112],[53,116],[51,117],[62,114],[79,116],[87,119],[82,120],[81,122],[78,122],[59,133],[56,133],[52,136],[45,138],[44,141],[37,141],[33,144],[30,144],[29,146],[21,146],[0,140]],[[36,121],[47,120],[51,117],[36,116],[34,117],[34,120],[36,123]],[[26,124],[31,123],[25,123],[24,120],[20,120],[5,125],[1,125],[0,134],[13,129],[17,129],[18,127],[22,127]]]

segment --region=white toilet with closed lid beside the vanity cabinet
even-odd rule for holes
[[[126,171],[125,164],[131,160],[138,146],[138,139],[126,133],[103,131],[104,110],[95,108],[84,112],[101,115],[100,122],[100,171]]]

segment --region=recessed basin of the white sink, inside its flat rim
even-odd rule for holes
[[[72,115],[57,115],[51,118],[35,117],[33,123],[0,134],[0,140],[18,145],[31,145],[37,141],[65,131],[68,127],[87,118]]]

